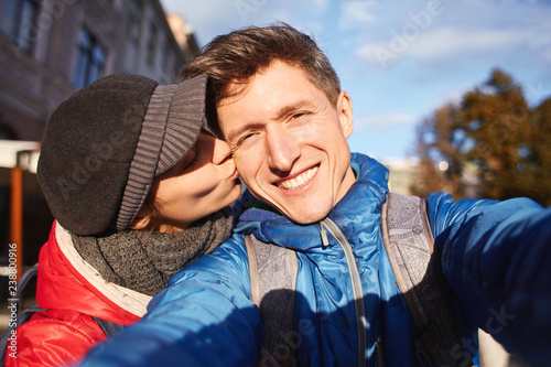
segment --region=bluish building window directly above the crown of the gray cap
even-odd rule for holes
[[[78,56],[73,84],[80,89],[101,76],[105,65],[105,51],[97,40],[82,29],[78,35]]]

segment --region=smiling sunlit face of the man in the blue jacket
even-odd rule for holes
[[[217,112],[250,192],[290,219],[323,219],[354,183],[350,99],[334,106],[301,68],[273,62]]]

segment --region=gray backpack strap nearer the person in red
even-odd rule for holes
[[[245,236],[251,300],[260,310],[262,349],[257,366],[295,366],[293,303],[299,265],[288,248]]]

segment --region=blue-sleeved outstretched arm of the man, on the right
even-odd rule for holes
[[[551,359],[551,208],[429,196],[444,277],[466,317],[512,353]]]

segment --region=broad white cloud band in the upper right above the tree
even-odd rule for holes
[[[443,2],[439,8],[408,11],[390,18],[385,32],[356,48],[363,60],[379,66],[412,57],[439,62],[461,56],[493,56],[498,52],[519,52],[547,60],[551,52],[551,7],[529,4],[527,0],[504,0],[505,6],[480,0]],[[372,32],[370,33],[372,36]],[[365,39],[368,40],[368,39]],[[509,54],[511,57],[517,56]],[[498,57],[508,57],[500,54]]]

